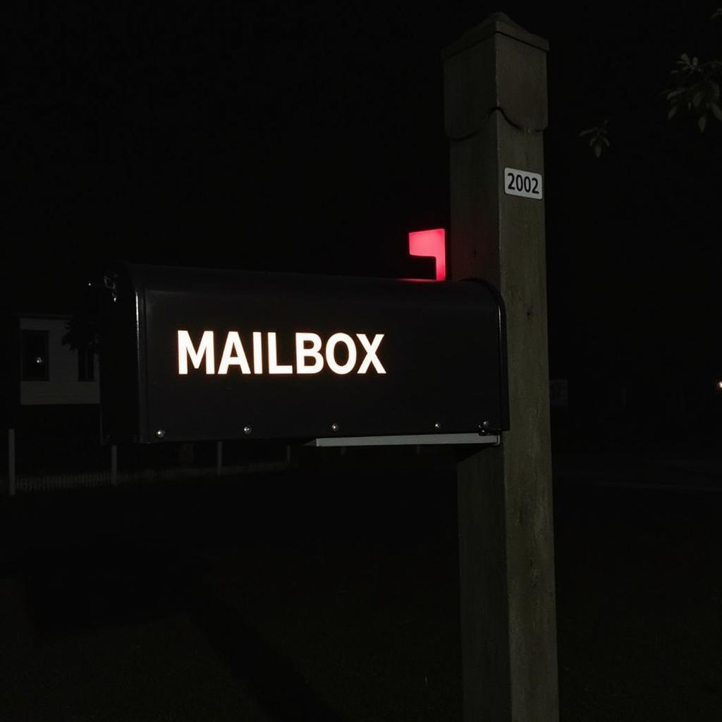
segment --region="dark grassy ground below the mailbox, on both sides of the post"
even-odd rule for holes
[[[453,474],[352,466],[0,500],[0,720],[460,720]],[[645,468],[556,464],[564,722],[722,719],[722,478]]]

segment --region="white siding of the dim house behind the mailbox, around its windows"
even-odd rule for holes
[[[35,404],[97,404],[100,392],[97,382],[78,380],[78,352],[62,342],[67,317],[21,316],[20,330],[48,331],[48,380],[21,381],[20,403]]]

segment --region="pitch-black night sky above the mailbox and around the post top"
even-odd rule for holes
[[[630,356],[712,373],[722,133],[668,123],[660,94],[680,53],[722,45],[715,6],[9,12],[6,288],[23,309],[67,308],[105,258],[408,273],[406,232],[448,227],[440,51],[502,10],[551,44],[552,373],[578,345],[611,375]],[[578,132],[604,117],[596,160]]]

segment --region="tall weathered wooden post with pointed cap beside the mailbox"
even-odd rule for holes
[[[508,334],[510,430],[457,473],[466,722],[559,718],[544,201],[505,189],[543,175],[547,50],[495,13],[443,53],[450,276],[495,284]]]

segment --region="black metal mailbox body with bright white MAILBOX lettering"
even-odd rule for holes
[[[119,264],[100,308],[105,439],[484,440],[508,428],[483,282]]]

